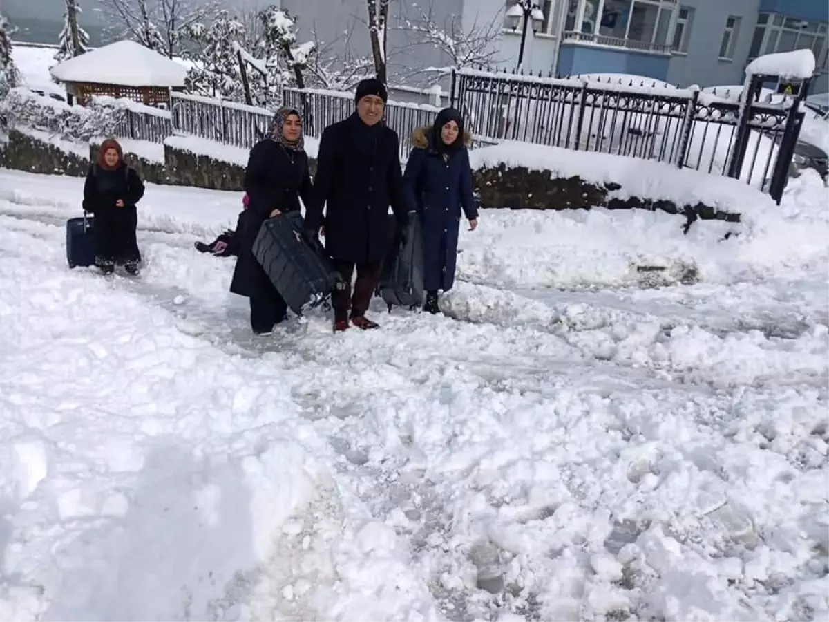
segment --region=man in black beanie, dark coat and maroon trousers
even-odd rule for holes
[[[405,226],[400,139],[383,123],[385,85],[362,80],[357,85],[356,111],[348,119],[328,126],[320,138],[314,201],[305,223],[308,236],[318,235],[325,215],[325,248],[347,289],[332,294],[334,330],[377,328],[366,318],[371,296],[380,279],[383,260],[392,243],[389,206],[399,226]],[[351,277],[356,283],[351,294]]]

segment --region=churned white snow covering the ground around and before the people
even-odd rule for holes
[[[259,342],[192,248],[240,193],[149,186],[104,279],[80,184],[0,171],[0,620],[829,620],[816,177],[725,241],[485,211],[445,316]]]

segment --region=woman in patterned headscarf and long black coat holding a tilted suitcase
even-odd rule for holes
[[[272,333],[287,315],[287,305],[253,254],[264,221],[287,211],[299,211],[299,198],[311,200],[311,174],[304,150],[299,113],[281,108],[268,134],[250,150],[245,169],[248,208],[240,219],[236,267],[230,291],[250,299],[250,328],[258,335]]]

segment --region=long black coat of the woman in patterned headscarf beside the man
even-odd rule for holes
[[[304,151],[284,148],[270,138],[250,150],[245,169],[245,192],[250,204],[236,231],[239,255],[230,282],[232,293],[248,298],[270,295],[269,289],[274,286],[253,255],[256,236],[271,211],[299,211],[299,197],[308,206],[311,189],[308,155]]]

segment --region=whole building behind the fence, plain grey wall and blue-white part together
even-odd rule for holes
[[[516,68],[523,18],[509,17],[516,0],[392,2],[390,69],[448,64],[434,46],[418,45],[400,28],[429,8],[437,23],[473,29],[497,22],[497,65]],[[813,92],[829,91],[829,0],[535,0],[521,68],[532,73],[644,75],[674,85],[739,85],[756,56],[808,47],[817,58]],[[301,34],[343,38],[365,22],[365,0],[282,0]],[[364,29],[365,26],[362,26]],[[360,28],[357,27],[357,30]],[[416,37],[415,37],[416,38]],[[368,51],[367,36],[348,37],[352,53]],[[356,49],[354,49],[356,46]],[[412,72],[408,71],[411,75]],[[390,71],[394,75],[395,71]]]

